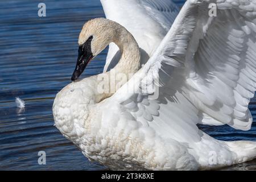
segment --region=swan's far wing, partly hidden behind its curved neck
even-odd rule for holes
[[[145,57],[143,61],[152,56],[179,13],[170,0],[101,0],[101,3],[106,18],[121,24],[137,40]],[[114,43],[110,44],[105,71],[118,62],[118,50]]]

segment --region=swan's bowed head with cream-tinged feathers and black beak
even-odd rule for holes
[[[84,71],[86,65],[113,42],[117,32],[117,23],[96,18],[84,24],[79,35],[79,50],[75,71],[71,80],[76,80]]]

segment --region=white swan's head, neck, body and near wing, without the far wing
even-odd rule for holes
[[[212,2],[216,17],[208,15]],[[136,11],[133,14],[129,17],[134,23]],[[256,88],[255,2],[185,2],[141,69],[139,46],[129,31],[111,20],[90,20],[79,36],[72,80],[110,42],[121,50],[118,64],[109,72],[73,81],[53,104],[56,127],[90,160],[110,169],[184,170],[218,168],[256,157],[255,142],[216,140],[196,126],[250,129],[248,104]],[[116,72],[135,74],[124,85],[108,82],[117,88],[114,94],[99,93],[102,76]],[[154,84],[158,78],[159,88]],[[145,89],[148,85],[154,90]]]

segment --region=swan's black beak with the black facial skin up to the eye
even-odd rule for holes
[[[75,81],[84,71],[86,65],[93,58],[92,49],[90,47],[93,36],[90,36],[82,46],[79,46],[78,57],[75,71],[71,77],[72,81]]]

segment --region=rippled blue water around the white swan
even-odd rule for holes
[[[89,162],[60,134],[51,110],[56,93],[70,82],[82,25],[104,17],[100,1],[43,1],[47,9],[43,18],[38,16],[40,2],[0,1],[0,170],[106,169]],[[83,77],[102,72],[106,52],[88,65]],[[17,109],[15,97],[26,102],[24,110]],[[255,108],[254,99],[250,104],[254,121]],[[228,126],[202,129],[217,139],[256,140],[255,122],[246,132]],[[39,151],[46,152],[46,165],[38,164]]]

